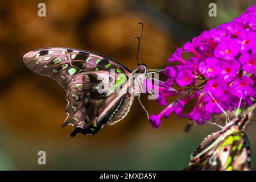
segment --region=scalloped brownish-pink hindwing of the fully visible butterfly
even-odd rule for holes
[[[69,116],[63,126],[72,124],[85,130],[92,125],[100,126],[102,121],[105,123],[104,119],[126,94],[109,91],[115,84],[114,76],[109,76],[108,71],[98,71],[80,73],[73,78],[66,97],[68,105],[65,111]],[[101,85],[104,79],[110,82]]]

